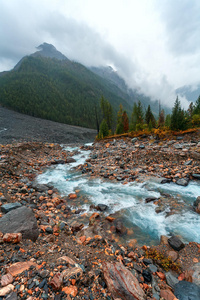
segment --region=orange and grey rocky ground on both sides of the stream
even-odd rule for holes
[[[153,176],[185,185],[199,180],[199,142],[199,134],[97,142],[82,147],[92,152],[76,169],[124,184]],[[152,247],[121,244],[129,232],[117,216],[104,215],[105,206],[85,212],[74,205],[87,202],[79,190],[61,196],[35,180],[50,166],[72,163],[73,153],[40,142],[0,151],[0,299],[200,299],[199,243],[162,236]],[[197,215],[198,207],[196,199]]]

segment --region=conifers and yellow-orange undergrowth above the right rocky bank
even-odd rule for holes
[[[106,100],[107,105],[109,102]],[[112,109],[110,109],[112,111]],[[108,113],[109,114],[109,113]],[[109,117],[107,116],[107,119]],[[107,125],[106,125],[107,123]],[[171,115],[168,114],[165,117],[165,112],[162,109],[159,113],[159,117],[156,120],[149,105],[145,111],[141,102],[134,103],[131,120],[129,124],[128,115],[126,111],[123,110],[122,104],[119,106],[119,111],[117,113],[117,124],[115,130],[109,131],[108,122],[106,118],[103,119],[102,124],[104,125],[104,131],[101,130],[98,134],[98,138],[104,138],[111,135],[127,135],[127,133],[154,133],[156,136],[161,137],[164,133],[169,131],[187,131],[190,132],[191,129],[200,127],[200,96],[198,97],[195,104],[190,103],[187,110],[181,107],[178,97],[174,102],[174,107],[172,109]],[[164,135],[163,135],[164,136]]]

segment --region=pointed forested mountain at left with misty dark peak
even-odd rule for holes
[[[25,56],[0,76],[0,104],[18,112],[57,122],[96,128],[102,95],[116,114],[131,103],[116,85],[72,62],[49,44]]]

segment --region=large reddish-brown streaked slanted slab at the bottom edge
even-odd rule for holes
[[[144,300],[145,294],[137,278],[121,263],[103,262],[103,274],[114,299]]]

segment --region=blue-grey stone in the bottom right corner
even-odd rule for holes
[[[175,285],[174,295],[179,300],[197,300],[200,299],[200,287],[183,280]]]

